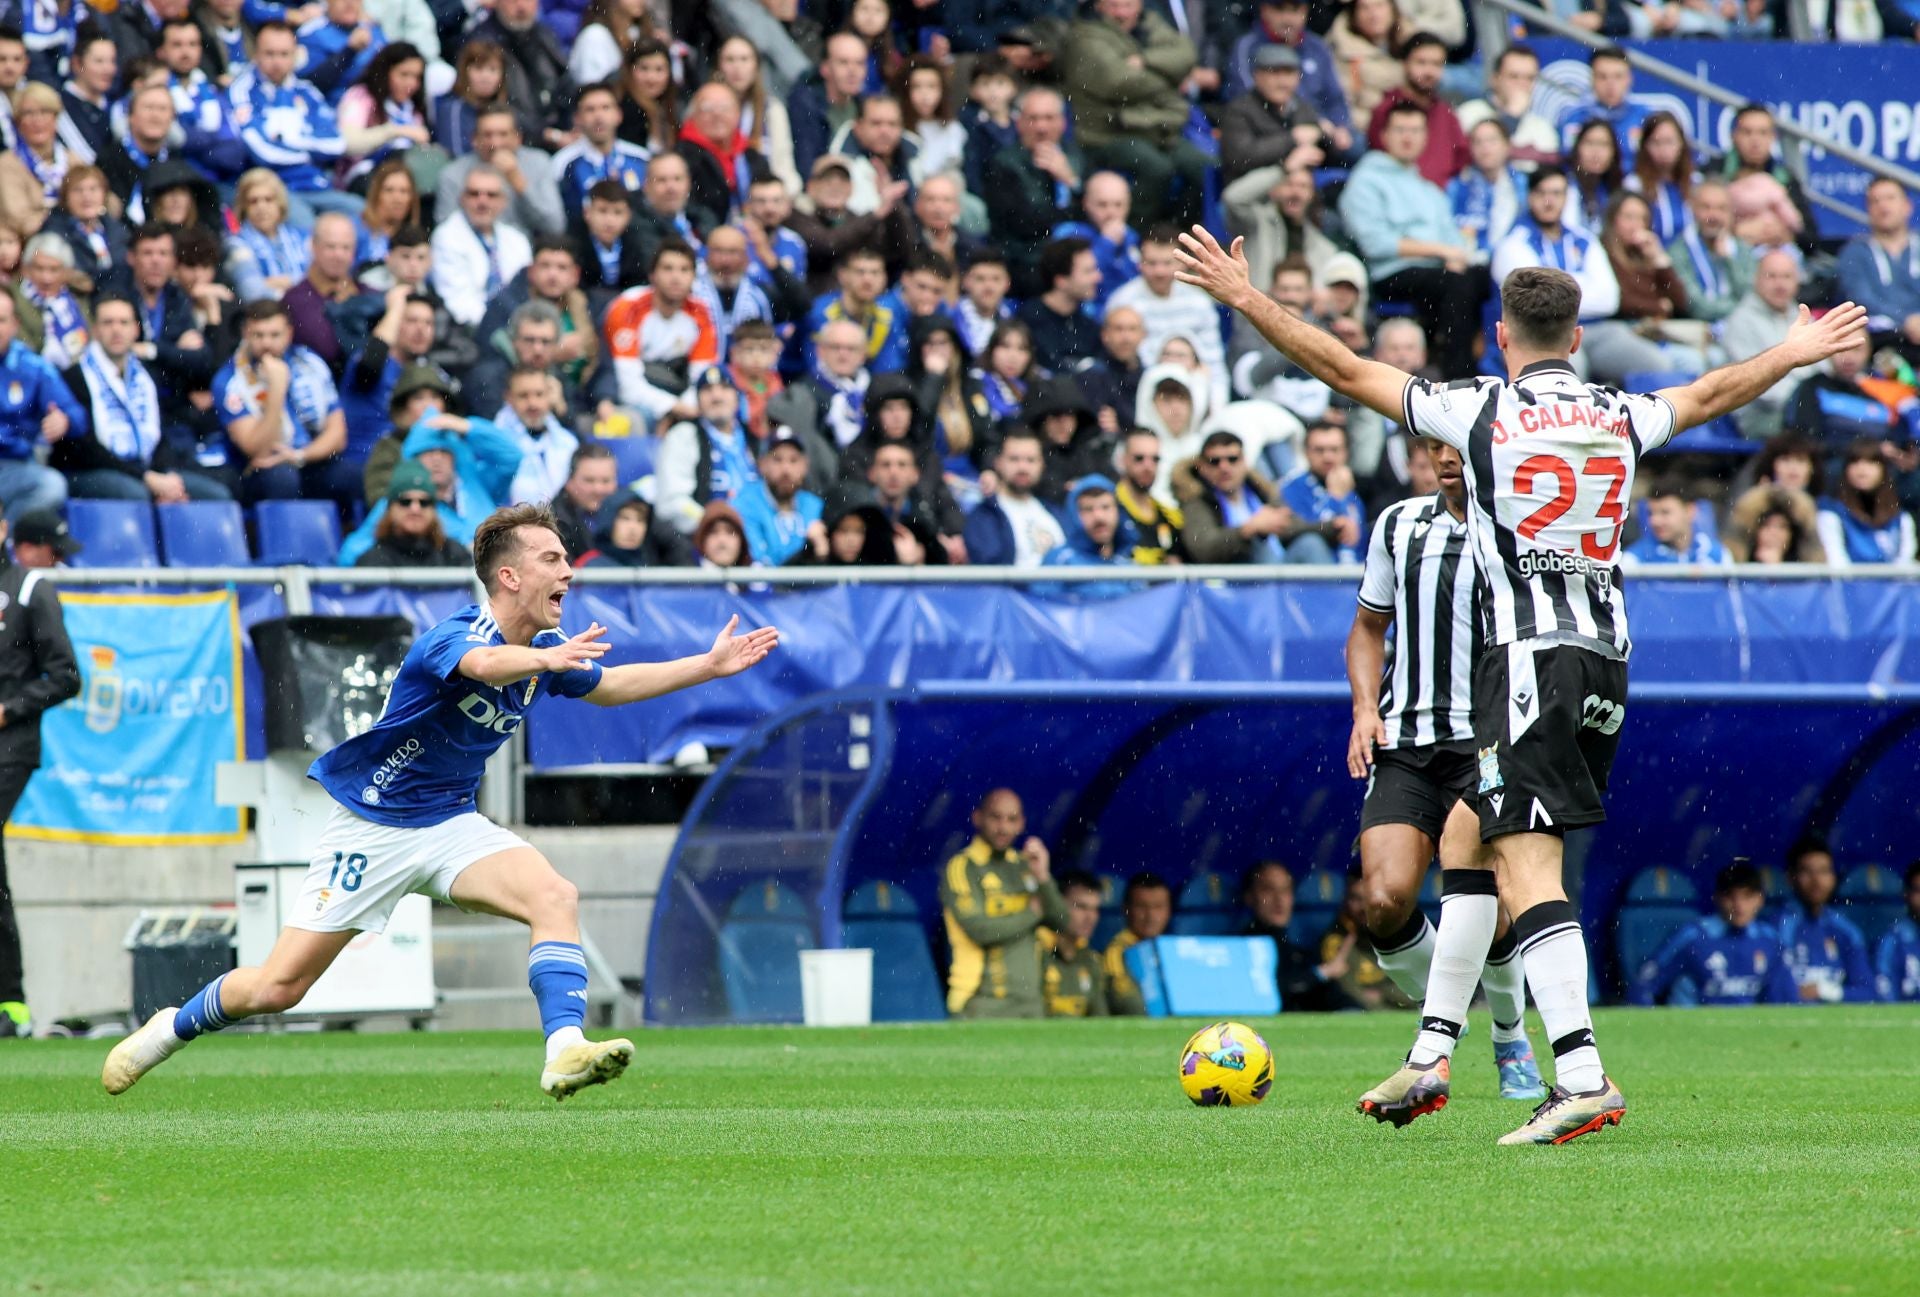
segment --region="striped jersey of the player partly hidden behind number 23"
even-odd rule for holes
[[[1480,656],[1467,524],[1438,493],[1390,505],[1373,524],[1359,606],[1392,614],[1380,677],[1382,748],[1473,739],[1473,664]]]

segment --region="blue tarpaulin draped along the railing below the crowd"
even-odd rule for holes
[[[1910,581],[1630,578],[1628,591],[1636,685],[1920,679],[1920,647],[1910,643],[1920,585]],[[415,616],[428,602],[419,593],[378,597],[388,602],[371,606],[376,597],[365,593],[340,604]],[[766,666],[637,708],[549,702],[526,727],[534,767],[664,762],[687,743],[728,748],[812,695],[925,679],[1344,685],[1354,585],[1179,581],[1114,601],[1035,599],[998,585],[576,585],[566,599],[568,631],[609,627],[609,664],[701,652],[733,614],[749,627],[780,627],[780,652]]]

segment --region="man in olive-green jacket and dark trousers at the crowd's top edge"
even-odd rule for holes
[[[1198,58],[1142,0],[1098,0],[1094,15],[1068,31],[1064,73],[1081,152],[1094,167],[1133,177],[1140,230],[1200,219],[1213,159],[1187,140],[1192,106],[1181,90]]]

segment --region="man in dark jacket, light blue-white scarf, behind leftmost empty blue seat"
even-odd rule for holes
[[[92,342],[65,372],[73,397],[86,407],[90,436],[56,441],[48,464],[67,474],[71,493],[83,499],[142,505],[232,499],[227,485],[202,472],[192,441],[163,434],[159,388],[132,355],[138,336],[131,301],[94,303]]]

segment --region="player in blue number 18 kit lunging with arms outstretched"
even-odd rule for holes
[[[547,1034],[540,1088],[555,1099],[618,1076],[630,1040],[588,1040],[588,963],[574,884],[522,838],[474,810],[488,758],[543,695],[599,706],[643,702],[762,662],[780,631],[728,622],[712,648],[676,662],[603,668],[605,627],[566,637],[561,604],[574,570],[540,505],[493,512],[474,533],[486,601],[413,643],[372,729],[313,762],[336,806],[313,865],[257,969],[225,973],[180,1009],[161,1009],[108,1055],[100,1080],[121,1094],[196,1036],[255,1013],[282,1013],[359,932],[380,932],[411,892],[532,929],[528,984]]]

